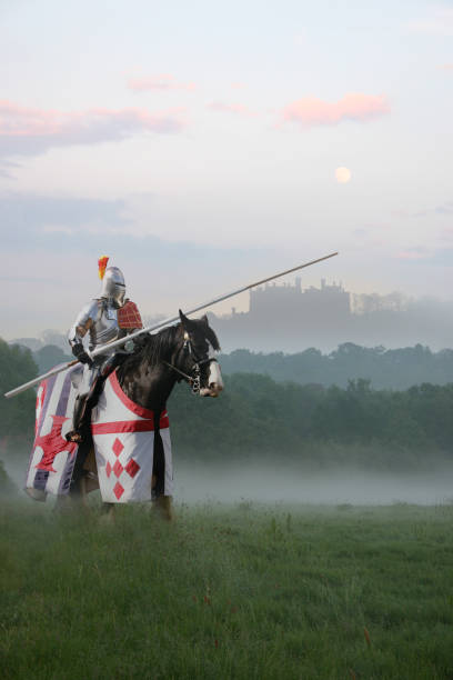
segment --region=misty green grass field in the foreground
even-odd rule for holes
[[[453,678],[453,506],[0,510],[4,678]]]

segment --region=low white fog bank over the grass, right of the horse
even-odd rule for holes
[[[193,468],[177,466],[178,502],[218,500],[323,504],[432,506],[453,502],[453,466],[426,473],[385,473],[356,470],[303,471],[283,467]]]

